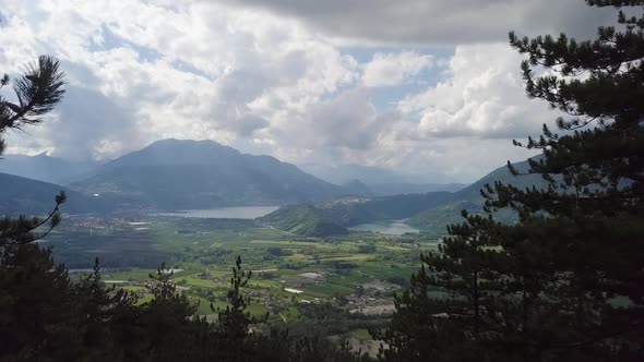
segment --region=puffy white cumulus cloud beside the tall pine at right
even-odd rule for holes
[[[456,47],[443,81],[398,102],[398,110],[420,121],[418,137],[512,138],[538,134],[554,118],[524,90],[521,57],[505,44]]]

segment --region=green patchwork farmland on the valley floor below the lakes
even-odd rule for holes
[[[252,315],[296,328],[335,318],[323,323],[330,327],[322,333],[360,346],[366,330],[392,313],[393,293],[408,287],[418,255],[437,249],[436,239],[421,234],[301,238],[241,219],[148,216],[97,222],[72,218],[44,245],[72,273],[87,272],[98,258],[103,280],[135,292],[141,302],[151,298],[150,275],[166,262],[178,290],[208,317],[226,305],[239,255],[252,270],[243,290]]]

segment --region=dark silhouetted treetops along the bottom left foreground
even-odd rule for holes
[[[106,288],[98,264],[72,280],[50,250],[4,248],[0,264],[0,361],[361,361],[348,346],[291,336],[286,329],[253,331],[241,290],[250,279],[238,257],[228,306],[208,322],[177,292],[162,265],[151,275],[154,298]]]

